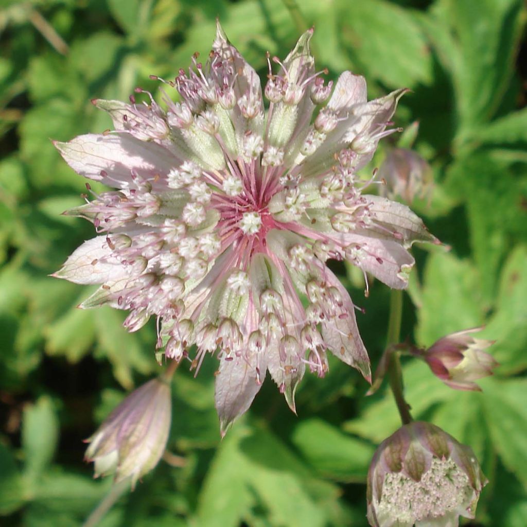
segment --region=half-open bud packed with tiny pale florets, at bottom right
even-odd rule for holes
[[[457,527],[474,518],[487,483],[468,446],[430,423],[399,428],[377,448],[368,472],[372,527]]]

